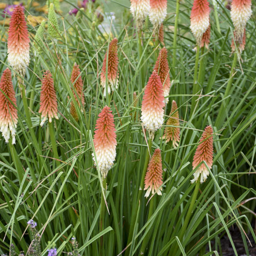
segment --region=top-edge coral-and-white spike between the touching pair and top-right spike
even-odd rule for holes
[[[190,15],[190,29],[199,46],[204,32],[209,27],[209,14],[210,8],[207,0],[194,0]]]

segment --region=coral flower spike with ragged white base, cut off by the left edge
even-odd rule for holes
[[[11,134],[12,144],[15,144],[17,122],[17,103],[12,85],[12,73],[9,68],[6,68],[0,81],[0,131],[6,143]]]

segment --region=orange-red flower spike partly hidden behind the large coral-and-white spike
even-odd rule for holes
[[[163,96],[164,97],[169,95],[169,91],[170,91],[170,87],[171,87],[167,54],[168,54],[167,49],[165,47],[163,47],[159,52],[156,64],[154,66],[154,70],[160,76],[161,82],[163,84]],[[168,102],[169,102],[169,98],[166,98],[165,103],[167,104]]]

